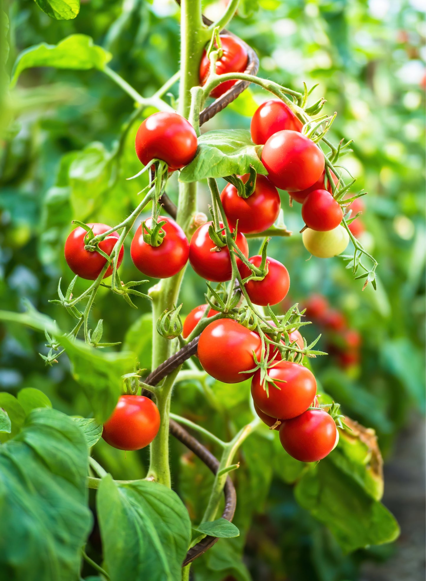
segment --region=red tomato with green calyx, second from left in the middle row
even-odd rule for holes
[[[130,246],[130,255],[135,267],[147,277],[169,278],[180,272],[187,264],[189,242],[180,225],[168,217],[159,216],[158,221],[166,220],[162,226],[166,235],[160,246],[144,242],[142,224],[139,225]],[[151,218],[146,220],[151,228]]]

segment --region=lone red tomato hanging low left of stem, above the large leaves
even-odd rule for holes
[[[157,435],[160,412],[153,401],[144,396],[124,395],[103,424],[102,437],[119,450],[140,450]]]

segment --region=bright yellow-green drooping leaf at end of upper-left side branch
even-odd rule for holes
[[[42,42],[21,52],[13,66],[10,84],[13,87],[22,71],[31,67],[102,70],[111,59],[112,55],[101,46],[94,45],[91,37],[71,34],[56,45]]]

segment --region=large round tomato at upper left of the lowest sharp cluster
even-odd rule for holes
[[[201,333],[198,357],[203,370],[224,383],[239,383],[253,375],[242,373],[255,367],[253,352],[260,360],[262,341],[232,319],[213,321]]]

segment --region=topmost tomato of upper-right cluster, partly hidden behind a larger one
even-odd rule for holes
[[[255,144],[264,145],[274,133],[290,129],[302,131],[303,123],[281,99],[269,99],[257,107],[250,131]]]

